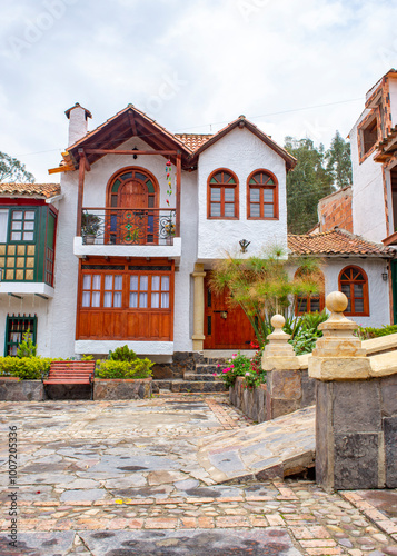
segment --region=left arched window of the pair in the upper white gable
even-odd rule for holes
[[[207,196],[208,218],[238,218],[238,179],[230,170],[210,175]]]

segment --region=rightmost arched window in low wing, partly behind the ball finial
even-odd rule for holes
[[[339,275],[339,289],[348,299],[345,315],[369,316],[368,278],[363,268],[344,268]]]

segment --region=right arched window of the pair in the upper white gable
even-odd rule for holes
[[[247,218],[278,219],[278,183],[268,170],[255,170],[247,180]]]

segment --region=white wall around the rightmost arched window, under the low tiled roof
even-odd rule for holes
[[[384,281],[381,274],[386,262],[378,258],[329,258],[321,266],[325,277],[325,295],[338,291],[340,270],[348,266],[360,267],[368,277],[369,317],[348,317],[359,326],[381,327],[390,324],[389,282]],[[294,276],[297,266],[290,267]]]

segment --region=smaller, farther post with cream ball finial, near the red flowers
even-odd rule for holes
[[[282,331],[286,319],[281,315],[271,317],[275,330],[268,336],[262,368],[266,377],[266,419],[296,411],[301,407],[302,388],[299,360]]]

